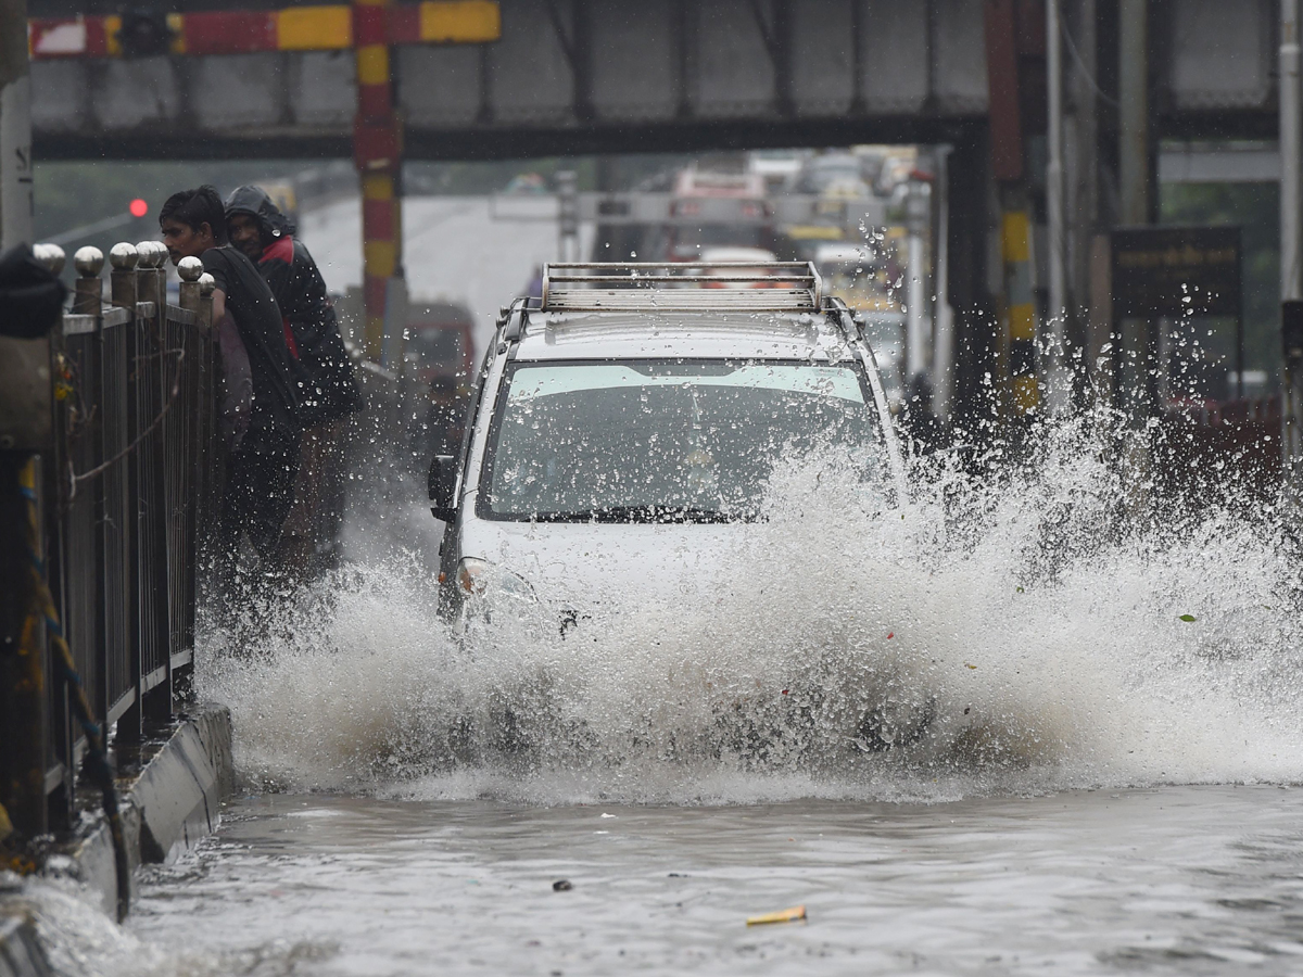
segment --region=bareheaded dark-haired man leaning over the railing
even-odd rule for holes
[[[227,242],[225,212],[214,188],[172,194],[159,211],[159,227],[172,263],[199,258],[216,285],[212,322],[227,387],[223,419],[231,448],[219,555],[236,556],[240,537],[248,534],[258,555],[274,560],[293,502],[302,430],[300,375],[280,309],[253,263]],[[229,571],[229,560],[223,563]]]

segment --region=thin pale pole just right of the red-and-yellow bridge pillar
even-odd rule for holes
[[[1045,89],[1048,96],[1048,150],[1045,167],[1046,234],[1049,237],[1049,320],[1050,350],[1046,370],[1048,401],[1054,413],[1067,409],[1072,383],[1067,354],[1067,267],[1066,214],[1063,207],[1063,38],[1059,27],[1059,0],[1045,4]]]

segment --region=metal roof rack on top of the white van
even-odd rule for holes
[[[810,262],[575,262],[543,266],[543,311],[816,311]]]

